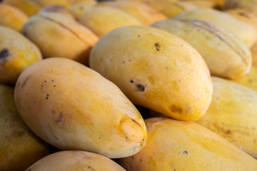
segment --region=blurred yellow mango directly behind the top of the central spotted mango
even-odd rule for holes
[[[80,18],[80,23],[92,30],[98,37],[121,26],[137,26],[141,22],[119,9],[96,6],[88,9]]]

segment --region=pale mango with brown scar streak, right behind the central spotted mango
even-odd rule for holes
[[[251,68],[251,51],[234,33],[197,19],[167,19],[152,25],[190,43],[204,58],[212,76],[236,79]]]

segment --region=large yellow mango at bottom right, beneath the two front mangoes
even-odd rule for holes
[[[257,160],[197,123],[170,118],[148,118],[145,123],[145,147],[119,160],[127,171],[257,170]]]

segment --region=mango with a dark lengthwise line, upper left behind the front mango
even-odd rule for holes
[[[23,34],[40,48],[44,58],[70,58],[85,65],[92,46],[98,41],[89,28],[75,19],[50,12],[28,19]]]

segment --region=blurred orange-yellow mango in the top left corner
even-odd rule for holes
[[[21,31],[28,16],[20,9],[8,4],[0,4],[0,26],[6,26]]]

